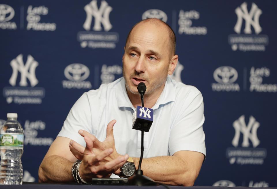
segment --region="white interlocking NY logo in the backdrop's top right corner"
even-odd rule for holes
[[[258,6],[255,3],[252,3],[252,7],[250,12],[248,13],[247,10],[247,3],[244,2],[240,7],[237,7],[235,10],[235,13],[237,14],[237,23],[234,27],[234,30],[236,33],[240,33],[240,30],[242,28],[242,18],[245,20],[245,28],[244,33],[251,34],[251,25],[255,30],[256,34],[259,34],[262,31],[262,28],[259,24],[259,18],[262,14],[261,9],[258,8]],[[254,19],[253,19],[254,18]]]

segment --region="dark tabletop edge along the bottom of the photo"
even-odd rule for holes
[[[160,189],[165,188],[164,186],[118,186],[118,185],[78,185],[78,184],[28,184],[23,183],[23,185],[0,185],[0,189]],[[248,187],[221,187],[221,186],[191,186],[191,187],[183,187],[183,186],[169,186],[169,188],[172,189],[250,189]],[[253,189],[253,188],[251,188]],[[264,188],[264,189],[270,189],[270,188]],[[277,189],[277,188],[274,188]]]

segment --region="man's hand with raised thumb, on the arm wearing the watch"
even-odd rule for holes
[[[103,156],[101,156],[101,158],[102,157],[103,158],[102,158],[101,162],[112,162],[113,160],[120,159],[120,157],[125,157],[125,158],[127,157],[126,160],[128,159],[128,155],[121,156],[115,150],[115,139],[113,137],[113,126],[114,126],[115,122],[116,122],[116,120],[112,120],[111,122],[109,122],[109,124],[107,126],[106,139],[103,142],[100,142],[95,136],[88,133],[87,131],[83,131],[83,130],[79,131],[79,134],[84,137],[86,143],[87,143],[87,141],[92,141],[93,153],[95,155],[98,155],[108,149],[112,149],[110,154],[108,154],[108,153],[104,153],[105,155],[102,154]],[[74,154],[74,156],[77,159],[85,160],[85,152],[86,152],[85,149],[88,147],[88,143],[87,143],[87,147],[84,148],[83,146],[76,143],[75,141],[70,141],[69,147],[70,147],[70,151],[72,152],[72,154]],[[125,162],[126,162],[126,160],[125,160]],[[123,165],[123,163],[121,165]],[[116,167],[114,167],[112,173],[119,175],[120,174],[120,169],[119,169],[120,166],[119,167],[117,166],[117,169],[115,169]]]

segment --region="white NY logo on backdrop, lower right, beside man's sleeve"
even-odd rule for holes
[[[253,147],[257,147],[260,141],[257,137],[257,129],[260,123],[256,121],[253,116],[250,116],[248,125],[246,126],[244,115],[240,116],[238,120],[234,121],[233,127],[235,128],[235,136],[233,138],[232,144],[237,147],[239,144],[240,133],[243,134],[242,147],[249,147],[249,140],[251,140]],[[251,131],[251,133],[250,133]]]

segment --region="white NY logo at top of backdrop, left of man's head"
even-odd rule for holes
[[[85,30],[89,31],[91,27],[92,17],[94,16],[94,31],[101,31],[101,23],[104,26],[105,31],[112,29],[112,24],[109,20],[110,12],[113,10],[111,6],[108,5],[106,1],[101,1],[100,8],[97,7],[97,1],[93,0],[85,6],[85,11],[87,13],[87,18],[83,27]]]

